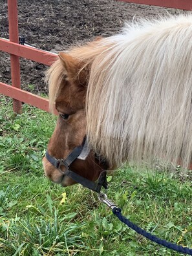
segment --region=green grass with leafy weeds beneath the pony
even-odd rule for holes
[[[28,105],[16,116],[11,100],[0,101],[1,256],[182,255],[124,226],[88,189],[48,181],[41,158],[56,118]],[[124,167],[108,197],[141,228],[192,247],[190,176]]]

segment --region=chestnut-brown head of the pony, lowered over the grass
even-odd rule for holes
[[[89,45],[91,47],[91,45]],[[89,50],[87,47],[87,50]],[[76,53],[79,48],[76,48]],[[80,48],[79,54],[84,51]],[[60,53],[59,59],[47,72],[49,85],[50,109],[58,111],[58,121],[48,143],[47,153],[52,159],[65,159],[72,151],[83,144],[86,134],[85,98],[89,65],[74,58],[73,54]],[[76,182],[65,175],[67,168],[62,169],[51,164],[48,157],[43,158],[45,175],[61,186],[70,186]],[[93,151],[89,151],[85,160],[76,159],[70,165],[74,173],[95,181],[107,162],[101,160]]]

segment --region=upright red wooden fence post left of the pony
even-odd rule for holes
[[[19,43],[17,0],[8,0],[8,27],[9,39],[14,43]],[[19,56],[10,54],[12,86],[21,89]],[[13,99],[13,110],[17,114],[22,112],[21,101]]]

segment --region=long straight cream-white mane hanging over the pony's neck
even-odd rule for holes
[[[87,134],[110,163],[191,162],[191,36],[192,16],[181,15],[127,24],[96,46],[107,50],[91,65]]]

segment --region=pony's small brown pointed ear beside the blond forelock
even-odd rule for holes
[[[77,61],[65,52],[59,52],[59,59],[69,76],[76,74]]]

